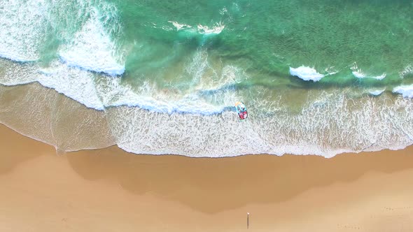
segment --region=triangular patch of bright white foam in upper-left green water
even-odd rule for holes
[[[116,47],[99,21],[99,11],[94,8],[90,15],[73,41],[60,50],[60,58],[69,66],[109,75],[123,74],[125,65],[118,64],[113,56]]]

